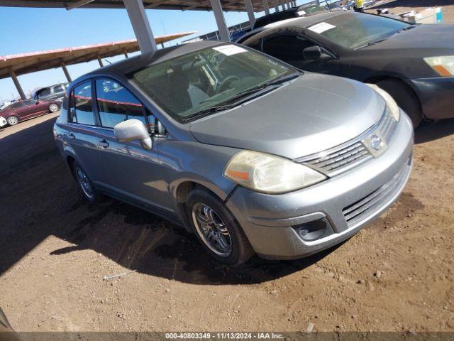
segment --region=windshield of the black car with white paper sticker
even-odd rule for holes
[[[387,39],[409,23],[362,13],[343,13],[307,27],[343,48],[357,49]]]

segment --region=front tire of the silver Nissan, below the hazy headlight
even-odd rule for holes
[[[204,207],[208,207],[208,209],[205,210]],[[201,224],[201,220],[198,218],[198,213],[204,219],[210,216],[214,217],[216,224],[210,224],[209,220],[204,220],[208,222],[204,229],[204,225]],[[229,266],[240,266],[254,255],[255,252],[250,246],[240,224],[238,224],[226,205],[208,190],[195,188],[189,193],[187,215],[197,239],[216,261]],[[205,230],[211,232],[206,233],[204,232]],[[215,234],[215,237],[210,238],[209,234]],[[223,242],[220,242],[221,239]],[[228,251],[222,247],[225,244],[229,246]]]

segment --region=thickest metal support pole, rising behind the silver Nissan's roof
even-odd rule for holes
[[[155,53],[157,51],[155,36],[151,31],[150,21],[148,21],[142,0],[123,0],[129,20],[133,26],[135,38],[139,43],[140,51],[145,53]]]

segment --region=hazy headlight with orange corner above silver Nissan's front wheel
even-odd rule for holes
[[[224,175],[262,193],[285,193],[314,185],[326,176],[299,163],[256,151],[240,151],[228,162]]]

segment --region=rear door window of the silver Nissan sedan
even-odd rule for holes
[[[94,126],[91,82],[74,87],[71,94],[70,121]]]

